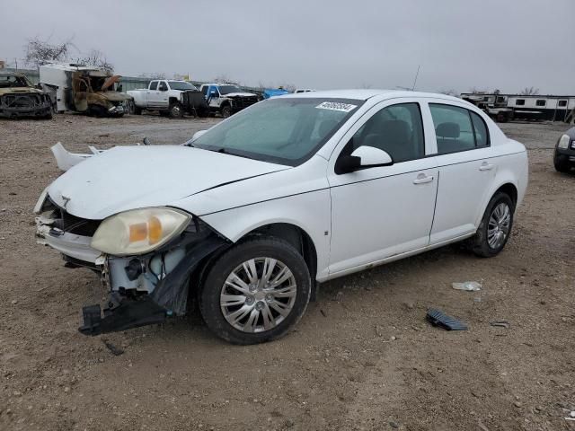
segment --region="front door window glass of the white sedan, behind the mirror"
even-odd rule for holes
[[[425,142],[420,105],[400,103],[379,110],[359,128],[344,153],[351,154],[362,145],[384,150],[394,163],[423,157]]]

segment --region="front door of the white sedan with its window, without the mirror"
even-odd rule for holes
[[[332,156],[337,159],[359,146],[375,146],[390,154],[394,164],[341,175],[330,168],[330,275],[429,244],[438,188],[437,162],[435,157],[425,157],[420,103],[390,103],[369,110],[350,128]]]

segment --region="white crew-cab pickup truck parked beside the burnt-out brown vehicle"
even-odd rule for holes
[[[180,119],[184,113],[208,117],[208,105],[201,92],[186,81],[154,80],[147,88],[132,90],[128,94],[134,98],[130,107],[133,114],[142,110],[158,110],[160,115]]]

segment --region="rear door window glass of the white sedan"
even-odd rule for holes
[[[452,105],[429,103],[438,142],[438,154],[473,150],[489,145],[489,133],[476,113]]]

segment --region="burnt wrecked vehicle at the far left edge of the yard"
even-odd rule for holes
[[[26,76],[0,72],[0,117],[52,118],[49,94],[35,88]]]

